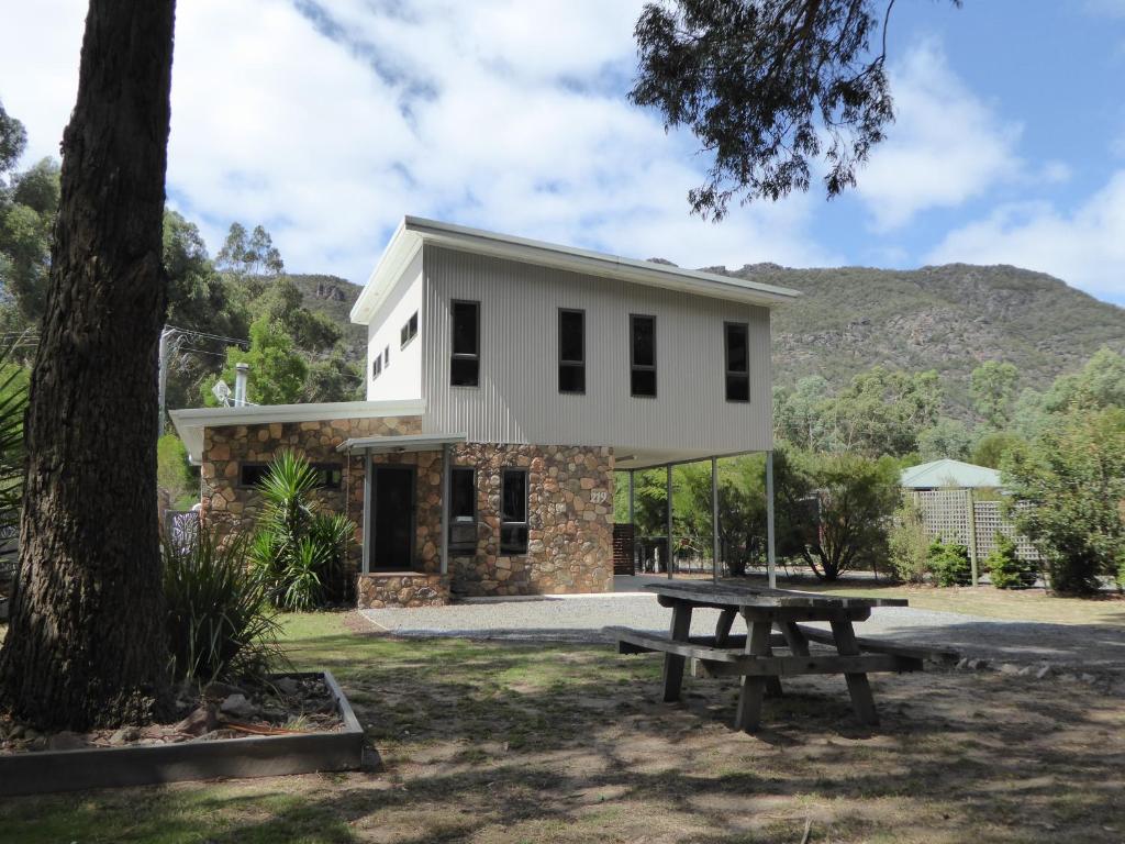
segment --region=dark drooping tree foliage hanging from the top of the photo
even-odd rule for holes
[[[807,190],[821,160],[829,197],[855,185],[856,168],[894,119],[885,71],[893,5],[645,5],[629,98],[655,106],[666,128],[690,128],[713,156],[706,183],[688,194],[695,213],[720,219],[736,197],[776,200]]]

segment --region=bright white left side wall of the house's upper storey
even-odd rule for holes
[[[422,250],[418,250],[367,327],[367,398],[369,402],[422,397],[421,309],[423,287]],[[402,345],[402,329],[413,314],[418,314],[420,335],[404,348]],[[377,357],[384,360],[381,371],[375,376],[374,363]]]

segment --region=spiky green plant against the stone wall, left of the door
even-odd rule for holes
[[[356,526],[342,515],[317,512],[320,485],[303,457],[282,452],[259,485],[264,500],[251,548],[255,578],[274,605],[312,610],[348,600],[344,556]]]

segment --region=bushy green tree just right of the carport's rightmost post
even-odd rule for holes
[[[785,518],[778,551],[800,557],[825,581],[886,558],[888,530],[899,504],[892,460],[857,455],[810,455],[777,487]]]

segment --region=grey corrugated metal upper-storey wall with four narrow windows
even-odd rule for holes
[[[482,442],[698,449],[772,446],[770,312],[426,245],[422,389],[431,432]],[[480,302],[480,386],[449,385],[451,299]],[[558,392],[558,308],[586,312],[586,394]],[[629,315],[657,324],[657,398],[629,394]],[[724,396],[723,321],[750,325],[749,404]]]

